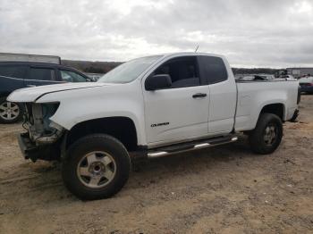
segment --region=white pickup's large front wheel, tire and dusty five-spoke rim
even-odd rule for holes
[[[114,196],[131,171],[131,159],[123,144],[104,134],[80,138],[63,160],[63,182],[82,200]]]

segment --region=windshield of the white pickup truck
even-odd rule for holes
[[[123,63],[114,70],[107,72],[104,76],[97,80],[101,83],[128,83],[138,78],[143,71],[155,63],[161,55],[148,56],[138,59],[133,59],[127,63]]]

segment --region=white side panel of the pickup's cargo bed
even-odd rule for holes
[[[265,106],[270,103],[289,106],[283,108],[282,121],[292,119],[297,109],[298,80],[236,80],[237,85],[237,110],[235,117],[235,130],[253,130],[262,111],[260,104]]]

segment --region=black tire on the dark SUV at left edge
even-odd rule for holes
[[[10,113],[10,117],[9,117],[7,113],[4,113],[5,111],[3,109],[4,107],[7,107],[8,103],[10,102],[6,101],[6,97],[0,97],[0,122],[1,123],[13,123],[13,122],[21,121],[21,117],[22,117],[21,104],[10,103],[13,105],[14,110],[13,108],[10,108],[10,112],[12,113]],[[15,109],[15,108],[18,108],[18,109]]]

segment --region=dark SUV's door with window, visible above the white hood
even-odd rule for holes
[[[28,75],[24,79],[25,87],[43,86],[62,83],[56,76],[55,68],[44,66],[30,66]]]

